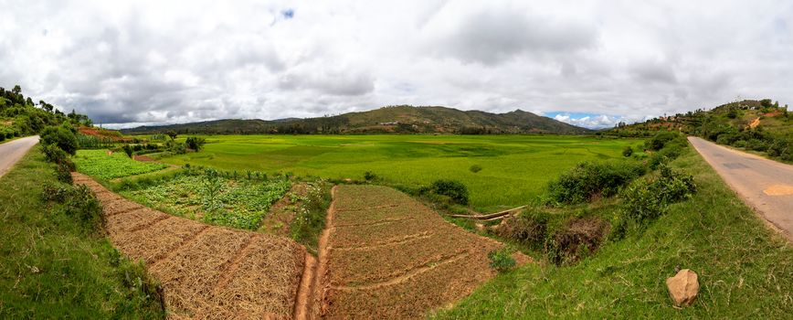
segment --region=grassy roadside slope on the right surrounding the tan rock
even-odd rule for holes
[[[793,314],[793,248],[773,234],[690,148],[672,163],[698,193],[641,234],[604,244],[571,267],[530,264],[503,273],[436,319],[761,318]],[[672,307],[665,280],[699,273],[691,307]]]

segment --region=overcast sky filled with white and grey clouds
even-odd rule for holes
[[[116,127],[391,104],[522,109],[602,127],[738,96],[793,103],[791,1],[0,7],[0,86]]]

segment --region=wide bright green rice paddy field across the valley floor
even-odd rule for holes
[[[182,138],[184,138],[183,136]],[[641,140],[584,136],[460,135],[210,135],[199,153],[161,159],[174,165],[223,170],[291,172],[363,180],[371,171],[386,183],[463,182],[481,211],[520,206],[548,180],[590,159],[622,158]],[[471,165],[480,165],[474,173]]]

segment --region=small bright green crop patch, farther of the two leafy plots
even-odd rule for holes
[[[107,155],[107,152],[107,150],[78,150],[72,160],[79,172],[104,180],[145,174],[167,166],[135,161],[122,153]]]

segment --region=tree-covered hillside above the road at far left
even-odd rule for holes
[[[37,134],[47,126],[67,122],[74,127],[92,124],[88,116],[74,110],[64,113],[46,101],[34,102],[18,85],[10,91],[0,87],[0,141]]]

